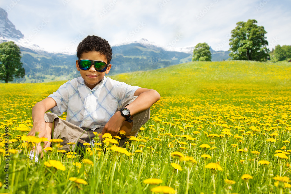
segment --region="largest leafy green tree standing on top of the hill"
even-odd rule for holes
[[[235,29],[231,31],[230,54],[233,60],[267,60],[269,49],[263,26],[258,26],[255,19],[247,22],[237,22]]]

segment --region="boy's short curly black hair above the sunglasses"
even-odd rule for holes
[[[105,55],[107,59],[107,64],[110,63],[112,59],[112,49],[107,40],[100,38],[99,36],[88,35],[84,40],[82,40],[77,47],[77,57],[81,58],[81,55],[85,52],[97,51],[102,55]]]

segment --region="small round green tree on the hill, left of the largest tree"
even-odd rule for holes
[[[193,51],[192,61],[211,61],[210,47],[206,42],[198,43]]]

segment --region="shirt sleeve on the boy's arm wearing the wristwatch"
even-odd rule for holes
[[[130,86],[124,82],[119,82],[116,87],[118,96],[118,107],[121,106],[122,102],[126,101],[130,97],[133,97],[134,92],[139,88],[139,86]]]

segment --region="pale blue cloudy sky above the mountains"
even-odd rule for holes
[[[248,19],[264,26],[270,49],[291,45],[291,0],[1,0],[0,7],[24,37],[50,52],[74,53],[87,35],[111,46],[145,38],[161,47],[206,42],[226,51],[236,23]]]

